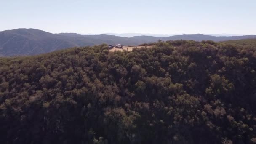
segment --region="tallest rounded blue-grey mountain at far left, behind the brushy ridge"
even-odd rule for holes
[[[5,56],[47,53],[78,46],[64,37],[37,29],[14,29],[0,32],[0,53]]]

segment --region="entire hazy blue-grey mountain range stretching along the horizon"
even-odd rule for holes
[[[35,55],[60,49],[92,46],[102,43],[139,45],[157,40],[240,40],[254,39],[256,35],[216,37],[203,34],[173,35],[169,37],[134,36],[120,37],[115,35],[81,35],[77,33],[52,34],[38,29],[13,29],[0,32],[0,56]]]

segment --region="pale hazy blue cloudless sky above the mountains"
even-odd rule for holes
[[[0,31],[256,34],[256,0],[0,0]]]

